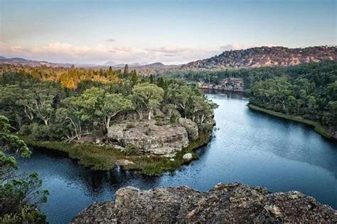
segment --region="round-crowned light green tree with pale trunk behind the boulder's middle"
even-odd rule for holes
[[[151,113],[154,107],[163,101],[164,90],[156,86],[156,84],[141,83],[134,86],[132,90],[134,99],[137,99],[148,110],[148,119],[151,120]]]

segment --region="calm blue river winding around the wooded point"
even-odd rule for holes
[[[301,191],[337,208],[337,144],[306,125],[247,108],[240,94],[208,94],[219,104],[215,138],[200,148],[200,159],[161,177],[123,169],[93,172],[72,159],[32,149],[20,169],[37,172],[50,191],[41,207],[49,223],[68,223],[95,201],[113,200],[123,186],[151,189],[187,185],[208,191],[219,182],[264,186],[269,191]]]

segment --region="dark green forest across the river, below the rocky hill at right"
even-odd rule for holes
[[[290,67],[188,71],[167,75],[188,81],[219,84],[222,79],[243,79],[250,103],[272,111],[319,121],[331,133],[337,130],[337,62]]]

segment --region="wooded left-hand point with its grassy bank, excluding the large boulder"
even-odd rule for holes
[[[130,169],[161,174],[180,166],[183,153],[196,157],[193,149],[208,142],[213,129],[216,104],[196,84],[141,77],[127,66],[124,70],[1,66],[0,114],[9,119],[11,131],[28,145],[67,152],[92,169],[111,169],[117,159],[134,156]],[[119,152],[107,139],[109,127],[116,123],[129,122],[129,129],[139,121],[178,125],[179,118],[196,123],[199,135],[171,162],[164,157],[141,158],[131,144],[123,145],[127,152]],[[151,136],[148,129],[146,135]]]

